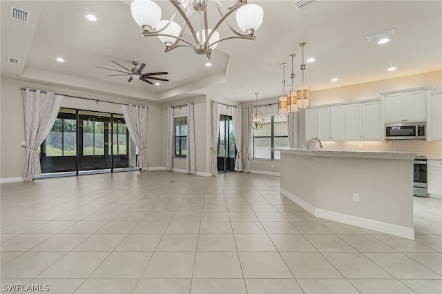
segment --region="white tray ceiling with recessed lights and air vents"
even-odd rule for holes
[[[163,18],[171,17],[171,3],[157,2]],[[234,2],[222,1],[225,6]],[[165,53],[157,37],[141,37],[130,1],[1,1],[1,76],[165,103],[196,94],[230,101],[253,100],[254,92],[259,99],[278,97],[282,62],[288,63],[290,84],[291,53],[296,54],[295,84],[300,84],[301,42],[307,42],[305,58],[316,58],[305,71],[313,91],[442,69],[442,1],[323,0],[300,11],[292,2],[249,0],[264,8],[256,41],[223,41],[208,68],[205,55],[191,48]],[[10,6],[29,12],[29,21],[11,19]],[[88,21],[88,13],[98,21]],[[209,24],[217,13],[209,14]],[[390,43],[365,39],[391,28]],[[219,31],[222,37],[231,35],[227,26]],[[8,57],[21,62],[7,63]],[[144,62],[144,72],[168,71],[163,77],[170,81],[151,86],[104,77],[113,72],[95,66],[119,70],[111,60],[127,68],[133,67],[131,61]],[[389,72],[390,66],[398,69]],[[334,77],[339,81],[332,82]]]

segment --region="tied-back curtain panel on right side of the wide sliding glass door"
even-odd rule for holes
[[[147,170],[147,108],[137,105],[122,105],[122,112],[129,134],[139,149],[137,167],[141,170]]]

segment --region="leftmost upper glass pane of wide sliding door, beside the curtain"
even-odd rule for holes
[[[44,142],[45,156],[77,155],[75,119],[57,118]]]

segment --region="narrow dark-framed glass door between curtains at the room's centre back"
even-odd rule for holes
[[[236,146],[231,116],[220,115],[220,137],[218,138],[218,173],[235,170]]]

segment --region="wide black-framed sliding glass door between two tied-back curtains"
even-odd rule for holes
[[[41,145],[42,173],[111,173],[129,167],[123,115],[61,108]],[[135,147],[133,148],[135,157]]]

